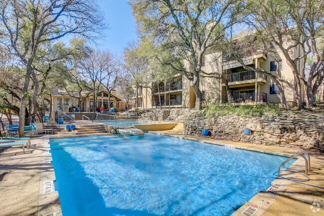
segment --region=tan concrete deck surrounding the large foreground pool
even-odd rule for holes
[[[184,136],[181,134],[181,128],[154,133],[285,156],[291,156],[299,150]],[[98,136],[107,134],[98,134]],[[45,135],[32,138],[31,148],[26,151],[26,154],[22,154],[21,148],[18,147],[7,148],[2,152],[0,154],[0,216],[47,216],[51,213],[61,216],[58,193],[50,191],[52,184],[50,182],[55,179],[55,176],[53,166],[49,163],[51,155],[48,153],[48,141],[54,138],[80,136],[87,135]],[[324,187],[324,155],[311,154],[311,166],[313,171],[310,172],[310,181],[307,184]],[[303,161],[297,160],[291,169],[303,173]],[[324,190],[280,179],[275,180],[273,184],[282,186],[278,187],[276,194],[260,192],[233,216],[246,216],[241,212],[251,204],[259,207],[253,216],[324,215]]]

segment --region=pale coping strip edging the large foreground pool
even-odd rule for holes
[[[285,157],[290,156],[290,154],[286,154],[286,153],[277,153],[277,152],[271,152],[271,151],[261,150],[261,149],[256,149],[256,148],[236,146],[236,145],[225,144],[225,143],[221,143],[219,141],[213,141],[213,140],[206,141],[206,140],[201,140],[198,138],[189,137],[186,135],[180,136],[180,135],[166,134],[166,133],[161,133],[161,132],[156,132],[156,131],[149,131],[148,133],[159,134],[159,135],[163,135],[163,136],[169,136],[169,137],[197,141],[197,142],[203,142],[203,143],[208,143],[208,144],[214,144],[214,145],[224,146],[227,148],[242,149],[242,150],[261,152],[261,153],[265,153],[265,154],[279,155],[279,156],[285,156]],[[95,134],[95,136],[107,136],[107,135],[114,135],[114,134],[110,134],[110,133]],[[49,144],[50,139],[64,139],[64,138],[76,138],[76,137],[88,137],[88,135],[77,135],[77,136],[66,136],[66,137],[51,136],[50,138],[49,137],[43,138],[44,146],[48,149],[48,152],[44,153],[44,156],[42,157],[43,165],[48,166],[48,161],[50,161],[50,163],[52,162],[52,156],[50,153],[50,144]],[[304,161],[301,158],[299,158],[290,167],[303,166],[303,164],[304,164]],[[298,174],[283,171],[281,175],[285,175],[286,178],[294,178]],[[52,181],[52,183],[53,183],[52,184],[53,191],[50,193],[44,194],[42,191],[44,189],[44,183],[50,182],[50,181]],[[53,201],[53,199],[58,199],[58,201],[59,201],[58,191],[55,191],[54,182],[55,182],[54,168],[53,168],[53,171],[46,171],[46,172],[44,172],[44,174],[41,174],[40,183],[39,183],[40,184],[40,186],[39,186],[39,204],[49,203],[49,205],[48,205],[48,208],[46,208],[47,215],[43,215],[41,213],[39,214],[39,212],[38,212],[38,216],[62,216],[62,210],[61,210],[60,204],[51,203]],[[266,191],[260,191],[252,199],[250,199],[247,203],[245,203],[243,206],[241,206],[236,212],[234,212],[231,216],[246,216],[246,215],[243,215],[242,213],[244,213],[245,211],[249,211],[249,210],[251,211],[251,209],[253,211],[255,211],[253,216],[262,216],[280,196],[283,196],[286,192],[290,193],[290,191],[287,191],[287,188],[291,183],[292,183],[291,181],[286,181],[283,179],[273,180],[271,182],[272,186],[270,186]],[[304,200],[304,202],[309,203],[309,204],[312,204],[313,202],[315,202],[315,199],[309,198],[304,195],[296,194],[296,195],[290,195],[290,196],[302,196],[300,199]],[[317,200],[317,202],[322,203],[319,200]],[[51,214],[53,214],[53,215],[51,215]]]

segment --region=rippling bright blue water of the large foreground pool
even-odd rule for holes
[[[63,216],[230,216],[286,159],[156,134],[50,146]]]

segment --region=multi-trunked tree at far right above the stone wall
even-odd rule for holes
[[[322,4],[320,0],[251,0],[242,15],[249,28],[283,53],[294,76],[290,86],[299,108],[303,107],[302,83],[310,108],[324,77]]]

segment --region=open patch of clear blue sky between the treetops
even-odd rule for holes
[[[128,41],[136,39],[135,18],[127,0],[100,0],[99,4],[109,24],[104,39],[97,41],[96,48],[122,53]]]

